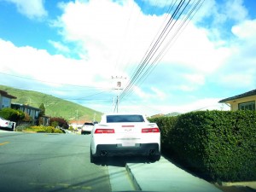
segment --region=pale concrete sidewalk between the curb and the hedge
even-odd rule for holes
[[[212,183],[195,177],[173,165],[164,157],[154,163],[127,163],[137,190],[168,192],[222,192]]]

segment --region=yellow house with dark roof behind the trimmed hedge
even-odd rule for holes
[[[250,90],[237,96],[231,96],[219,102],[230,104],[230,110],[254,110],[256,103],[256,90]]]

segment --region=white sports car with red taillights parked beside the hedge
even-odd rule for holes
[[[102,156],[147,155],[160,160],[160,130],[137,113],[102,115],[91,131],[90,162]]]

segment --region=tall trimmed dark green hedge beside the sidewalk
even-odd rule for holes
[[[256,112],[199,111],[150,119],[183,166],[211,180],[256,180]]]

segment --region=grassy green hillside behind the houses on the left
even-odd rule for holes
[[[45,114],[51,117],[84,121],[91,121],[94,117],[97,121],[101,119],[101,112],[38,91],[19,90],[4,85],[0,85],[0,90],[7,91],[9,95],[16,96],[17,99],[12,99],[13,103],[28,104],[34,108],[39,108],[44,103]]]

